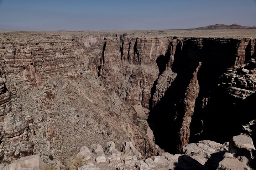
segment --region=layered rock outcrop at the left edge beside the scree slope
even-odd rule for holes
[[[0,159],[18,159],[33,154],[34,143],[29,142],[31,135],[29,122],[26,115],[21,114],[21,104],[15,101],[6,87],[5,71],[2,69],[0,77]],[[14,101],[14,102],[13,102]]]

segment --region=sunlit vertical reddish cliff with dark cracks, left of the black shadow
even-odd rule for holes
[[[149,109],[151,87],[160,69],[156,60],[167,52],[171,39],[107,37],[98,76],[127,104]]]

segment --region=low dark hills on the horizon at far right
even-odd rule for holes
[[[241,26],[235,23],[235,24],[231,24],[230,26],[225,24],[215,24],[215,25],[211,25],[207,27],[199,27],[195,29],[256,29],[256,27]]]

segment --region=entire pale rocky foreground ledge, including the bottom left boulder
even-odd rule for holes
[[[145,159],[133,146],[124,142],[120,151],[115,143],[106,143],[105,150],[99,144],[83,146],[70,163],[76,170],[251,170],[254,168],[255,147],[250,136],[234,136],[224,144],[204,140],[182,148],[183,154],[163,153]],[[10,165],[0,165],[0,170],[46,170],[38,155],[20,158]]]

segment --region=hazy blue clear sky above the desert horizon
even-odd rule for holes
[[[102,31],[256,26],[256,0],[0,0],[0,29]]]

